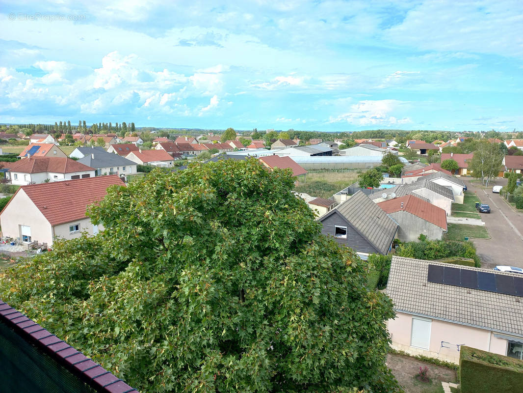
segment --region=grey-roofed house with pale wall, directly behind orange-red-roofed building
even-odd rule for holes
[[[435,183],[427,179],[426,176],[419,178],[411,184],[397,185],[393,188],[383,190],[381,193],[370,195],[370,198],[379,203],[397,196],[414,195],[427,201],[438,208],[445,210],[447,215],[451,214],[454,194],[450,187]]]

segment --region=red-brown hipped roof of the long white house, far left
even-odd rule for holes
[[[9,170],[21,173],[72,173],[94,169],[67,157],[29,157],[13,162]]]

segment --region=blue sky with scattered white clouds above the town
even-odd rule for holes
[[[523,2],[0,1],[0,123],[523,129]]]

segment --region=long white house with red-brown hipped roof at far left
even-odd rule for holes
[[[7,179],[12,184],[84,179],[95,176],[95,170],[67,157],[28,157],[10,163]]]

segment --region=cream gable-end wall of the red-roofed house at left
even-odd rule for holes
[[[32,241],[52,244],[51,224],[22,189],[13,196],[0,215],[0,225],[4,236],[15,239],[21,239],[20,225],[27,225],[31,228]]]

